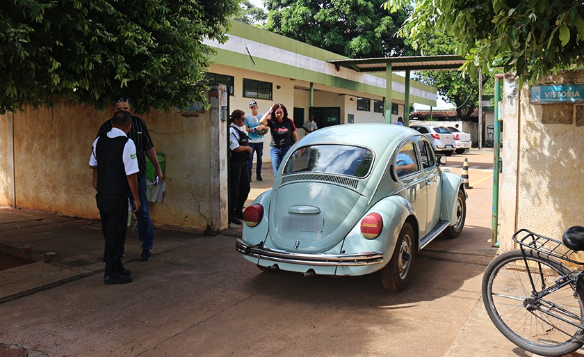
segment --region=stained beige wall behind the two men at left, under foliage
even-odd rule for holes
[[[218,113],[141,116],[156,152],[165,154],[166,196],[149,205],[155,224],[227,228],[225,212],[211,207],[227,202],[227,122]],[[14,113],[16,206],[97,219],[88,161],[97,129],[111,114],[63,102]],[[0,118],[0,204],[6,205],[6,118]]]

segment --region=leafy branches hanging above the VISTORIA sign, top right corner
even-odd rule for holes
[[[384,3],[391,11],[411,5],[410,0]],[[414,44],[429,31],[454,36],[471,74],[503,66],[533,83],[550,71],[583,63],[582,1],[414,0],[414,6],[401,35]]]

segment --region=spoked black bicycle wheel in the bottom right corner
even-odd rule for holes
[[[583,288],[574,296],[567,285],[540,299],[537,292],[555,284],[569,269],[537,251],[510,251],[496,257],[482,278],[482,301],[496,326],[508,340],[526,351],[542,356],[562,356],[584,344]],[[526,268],[526,261],[529,269]]]

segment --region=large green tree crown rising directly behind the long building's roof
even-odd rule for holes
[[[269,31],[350,58],[412,55],[396,37],[407,10],[389,14],[383,0],[266,0]]]

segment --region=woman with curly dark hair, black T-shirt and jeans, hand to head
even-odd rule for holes
[[[298,141],[296,127],[291,118],[288,118],[288,109],[284,104],[274,104],[270,111],[263,114],[259,123],[270,127],[272,141],[270,141],[270,159],[274,170],[274,177],[282,164],[282,159],[293,143]]]

